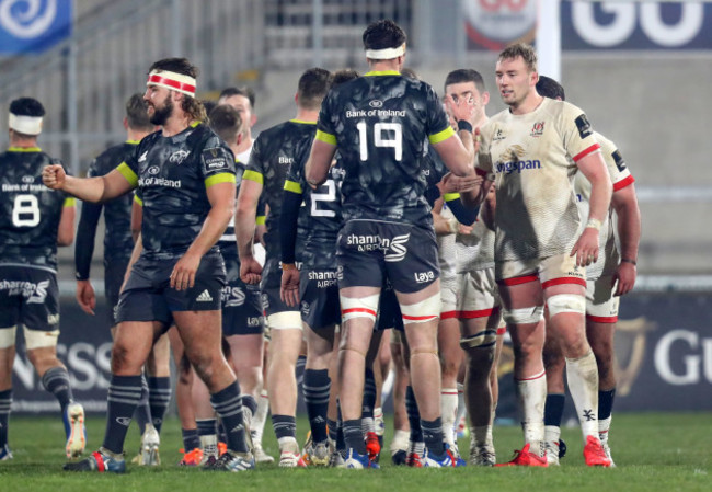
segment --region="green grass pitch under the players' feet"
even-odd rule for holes
[[[298,422],[305,434],[307,422]],[[391,435],[387,423],[387,449],[381,457],[381,470],[298,469],[282,470],[276,465],[261,466],[244,473],[206,472],[179,468],[181,455],[180,425],[175,419],[165,422],[162,433],[162,466],[145,469],[129,465],[124,476],[68,473],[61,470],[64,430],[58,417],[11,417],[10,445],[12,461],[0,462],[0,491],[64,492],[64,491],[572,491],[572,492],[673,492],[712,491],[712,414],[710,413],[644,413],[617,414],[611,428],[615,469],[589,469],[582,457],[578,428],[564,428],[569,453],[561,467],[552,469],[466,467],[430,470],[393,467],[388,455]],[[101,444],[103,419],[89,419],[89,447]],[[495,427],[497,461],[510,458],[512,450],[521,447],[518,427]],[[127,438],[127,456],[138,448],[138,432],[134,426]],[[269,428],[264,447],[277,455],[277,444]],[[460,442],[467,454],[468,440]]]

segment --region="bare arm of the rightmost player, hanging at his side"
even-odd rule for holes
[[[638,207],[635,185],[618,190],[611,198],[611,206],[618,217],[618,238],[620,240],[621,260],[613,273],[618,281],[616,296],[630,293],[635,285],[638,245],[641,240],[641,210]]]

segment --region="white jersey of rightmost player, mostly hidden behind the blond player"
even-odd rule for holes
[[[610,174],[610,181],[613,183],[613,192],[622,190],[633,183],[635,180],[631,175],[625,161],[616,147],[616,144],[604,137],[599,133],[594,133],[596,140],[600,144],[600,150]],[[590,199],[590,181],[586,179],[584,173],[578,172],[574,178],[574,191],[576,192],[576,205],[578,206],[578,215],[581,217],[581,227],[578,234],[584,231],[586,221],[588,220],[589,199]],[[620,256],[616,248],[616,237],[613,233],[612,208],[608,210],[606,220],[600,227],[600,236],[598,239],[598,261],[594,264],[586,266],[586,278],[595,281],[602,275],[611,275]]]

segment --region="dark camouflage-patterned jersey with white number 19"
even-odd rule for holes
[[[333,89],[317,138],[344,162],[344,220],[430,224],[423,155],[455,131],[430,85],[395,71],[368,72]]]

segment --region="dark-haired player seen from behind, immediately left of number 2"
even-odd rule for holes
[[[330,73],[312,68],[299,79],[295,102],[297,115],[257,137],[248,169],[242,176],[234,229],[240,254],[240,277],[246,284],[261,282],[263,305],[272,333],[267,387],[272,423],[279,442],[279,466],[305,466],[297,443],[297,380],[295,369],[302,340],[299,308],[285,304],[279,294],[282,284],[279,220],[283,188],[298,146],[310,141],[317,131],[319,107],[329,87]],[[260,195],[269,207],[267,232],[264,236],[266,259],[264,272],[253,252],[255,217]],[[291,268],[292,264],[284,265]],[[295,266],[296,267],[296,266]]]

